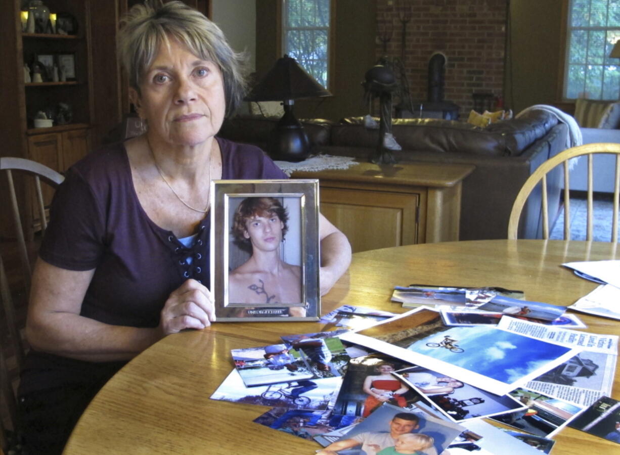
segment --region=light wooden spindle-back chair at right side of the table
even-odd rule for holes
[[[532,190],[542,182],[542,238],[549,239],[549,214],[547,210],[547,180],[546,176],[554,167],[564,164],[564,240],[570,240],[570,198],[569,198],[569,160],[578,156],[586,156],[588,160],[588,190],[587,190],[587,231],[586,240],[592,241],[593,208],[593,155],[600,153],[616,154],[615,185],[613,193],[613,222],[611,227],[611,241],[618,242],[618,203],[620,190],[620,144],[600,143],[586,144],[572,147],[548,159],[534,171],[529,179],[523,183],[521,191],[516,195],[515,203],[508,221],[508,239],[516,239],[521,211]],[[583,158],[582,158],[583,159]]]

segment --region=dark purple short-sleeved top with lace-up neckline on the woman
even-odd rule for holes
[[[217,140],[222,179],[288,178],[259,148]],[[112,144],[68,170],[56,190],[39,255],[56,267],[95,269],[82,316],[106,324],[156,327],[169,294],[187,278],[209,283],[209,231],[207,213],[193,247],[186,248],[172,231],[157,226],[139,203],[125,146]],[[191,264],[185,261],[188,256]],[[55,363],[74,363],[51,357]]]

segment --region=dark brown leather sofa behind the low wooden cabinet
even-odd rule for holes
[[[267,146],[277,118],[235,117],[224,122],[219,135],[234,141]],[[312,152],[353,156],[367,161],[378,131],[363,126],[362,118],[302,121]],[[395,119],[392,133],[402,151],[399,161],[474,164],[463,182],[461,240],[505,239],[508,218],[517,193],[542,162],[566,147],[568,127],[543,110],[494,123],[487,128],[440,119]],[[557,216],[560,170],[549,175],[549,216]],[[521,216],[520,237],[541,237],[540,190],[529,198]]]

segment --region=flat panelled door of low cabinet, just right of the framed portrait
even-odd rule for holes
[[[417,193],[321,188],[321,213],[353,252],[417,243],[419,204]]]

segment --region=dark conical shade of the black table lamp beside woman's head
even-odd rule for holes
[[[246,101],[283,101],[331,95],[294,58],[285,55],[278,58],[273,68],[246,96]]]

